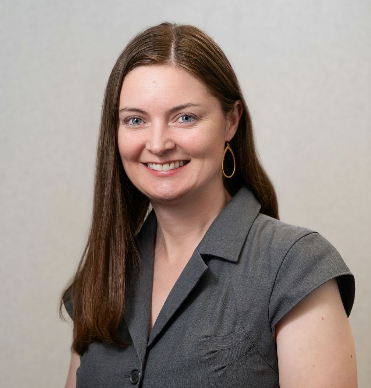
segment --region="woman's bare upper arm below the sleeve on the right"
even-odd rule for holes
[[[307,295],[275,329],[281,388],[357,387],[354,340],[336,278]]]

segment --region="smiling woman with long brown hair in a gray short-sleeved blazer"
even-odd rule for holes
[[[279,220],[217,44],[174,23],[135,36],[107,84],[92,225],[61,298],[66,386],[355,387],[354,293],[329,241]]]

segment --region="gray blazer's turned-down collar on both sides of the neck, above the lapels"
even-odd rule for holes
[[[200,255],[212,255],[236,262],[246,236],[262,205],[246,186],[241,186],[217,215],[198,244]],[[153,244],[157,218],[152,209],[139,233]]]

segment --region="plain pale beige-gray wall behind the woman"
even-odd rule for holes
[[[205,29],[225,50],[281,220],[320,232],[354,273],[350,324],[369,386],[369,0],[0,7],[0,386],[64,386],[72,326],[57,300],[87,238],[104,87],[133,34],[166,20]]]

